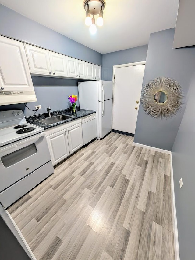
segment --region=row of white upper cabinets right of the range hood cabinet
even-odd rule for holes
[[[31,74],[90,80],[101,79],[101,67],[98,65],[26,43],[24,46]]]

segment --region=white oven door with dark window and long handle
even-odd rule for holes
[[[50,160],[44,132],[0,147],[0,191]]]

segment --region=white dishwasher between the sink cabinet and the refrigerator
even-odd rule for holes
[[[81,118],[83,145],[97,137],[96,113]]]

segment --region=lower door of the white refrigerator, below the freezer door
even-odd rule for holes
[[[112,99],[99,101],[98,103],[99,135],[97,139],[101,139],[112,129]]]

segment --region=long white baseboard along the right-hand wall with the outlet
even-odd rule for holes
[[[176,215],[176,202],[175,202],[175,190],[174,190],[174,180],[173,180],[173,163],[172,163],[172,153],[170,154],[170,168],[171,168],[171,192],[172,192],[172,219],[173,219],[173,235],[174,235],[174,250],[175,250],[175,260],[179,260],[179,240],[178,240],[178,230],[177,230],[177,215]]]

